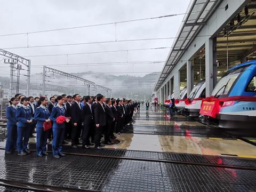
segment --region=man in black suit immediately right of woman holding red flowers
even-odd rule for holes
[[[74,103],[71,106],[71,122],[72,122],[72,132],[71,132],[71,145],[73,148],[77,148],[80,145],[79,138],[81,137],[82,131],[82,107],[81,107],[81,96],[79,94],[74,94]]]

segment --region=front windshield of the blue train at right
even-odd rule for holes
[[[245,68],[247,68],[247,66],[232,70],[225,76],[221,77],[220,81],[217,83],[212,92],[212,96],[216,98],[227,97],[231,87],[239,75],[243,73]]]

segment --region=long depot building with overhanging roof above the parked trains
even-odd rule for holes
[[[205,97],[217,78],[256,59],[256,1],[191,1],[155,84],[159,102],[178,98],[205,79]]]

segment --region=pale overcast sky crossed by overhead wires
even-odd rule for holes
[[[2,1],[0,12],[0,35],[27,33],[29,31],[58,29],[94,25],[98,23],[118,22],[132,19],[151,18],[161,15],[185,13],[189,0],[161,1]],[[124,51],[111,53],[93,53],[78,55],[61,55],[51,57],[28,57],[45,54],[71,54],[111,50],[145,49],[154,47],[170,47],[173,39],[154,41],[132,41],[115,43],[97,43],[72,46],[51,46],[22,49],[7,49],[10,47],[73,44],[87,42],[117,41],[126,39],[175,37],[184,15],[162,19],[126,22],[115,25],[51,31],[0,37],[1,49],[19,54],[31,59],[31,73],[41,73],[42,66],[63,70],[70,73],[91,70],[129,75],[145,75],[153,71],[161,71],[164,63],[134,63],[138,61],[164,61],[170,49]],[[28,44],[27,44],[28,43]],[[1,57],[1,55],[0,55]],[[1,57],[3,58],[3,57]],[[81,63],[128,62],[127,64],[94,66],[72,66]],[[68,66],[67,66],[68,64]],[[54,66],[63,65],[63,66]],[[9,75],[9,68],[0,62],[1,76]],[[33,67],[34,66],[34,67]],[[138,74],[134,74],[138,73]]]

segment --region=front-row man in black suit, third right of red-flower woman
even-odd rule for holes
[[[103,107],[103,95],[97,95],[97,104],[94,106],[94,120],[95,120],[95,136],[94,136],[94,148],[102,149],[100,139],[102,133],[102,127],[106,125],[105,109]]]

